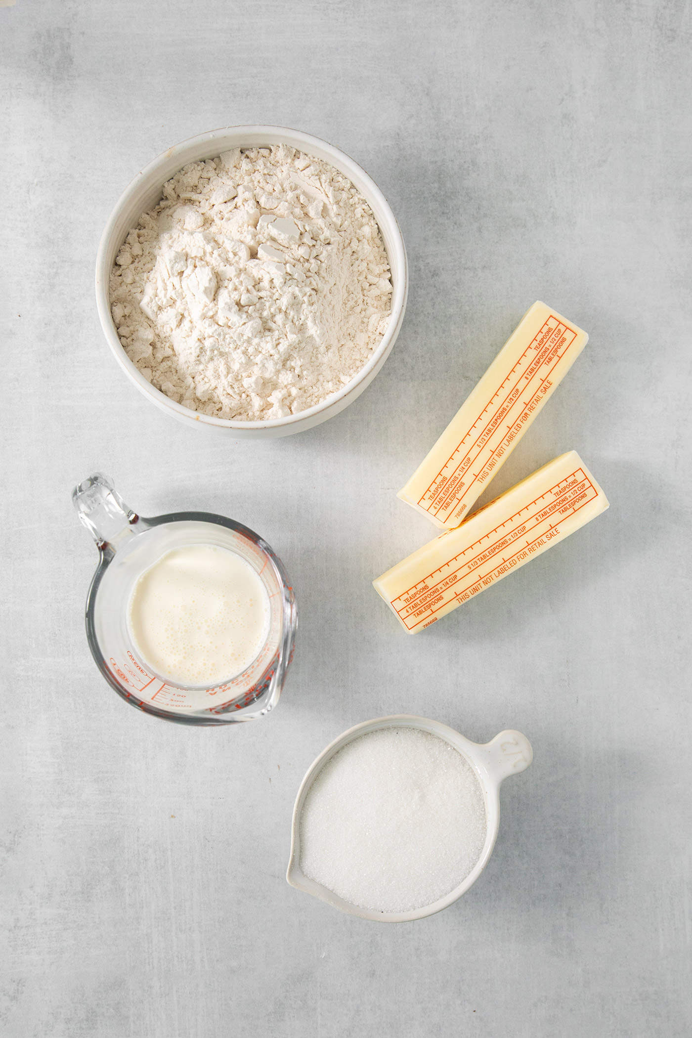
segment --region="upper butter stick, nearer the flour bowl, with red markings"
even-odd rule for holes
[[[436,526],[459,526],[587,342],[581,328],[534,303],[396,496]]]

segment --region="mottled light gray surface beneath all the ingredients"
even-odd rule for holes
[[[691,1033],[691,34],[674,0],[2,5],[3,1036]],[[239,443],[127,382],[92,271],[143,164],[261,121],[370,172],[411,294],[353,407]],[[394,493],[536,298],[591,340],[492,494],[574,447],[610,512],[407,638],[369,582],[431,527]],[[94,468],[283,557],[271,717],[167,726],[101,680],[70,502]],[[379,927],[284,869],[312,758],[398,711],[535,757],[473,891]]]

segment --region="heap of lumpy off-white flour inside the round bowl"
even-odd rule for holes
[[[371,356],[391,305],[372,213],[333,166],[284,145],[194,162],[120,249],[111,308],[131,360],[195,411],[303,411]]]

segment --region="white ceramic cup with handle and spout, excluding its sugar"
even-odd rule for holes
[[[440,739],[444,739],[445,742],[448,742],[454,749],[458,749],[469,762],[478,776],[486,801],[488,831],[482,852],[475,867],[466,879],[459,886],[455,886],[453,891],[445,895],[445,897],[440,898],[439,901],[435,901],[431,905],[416,908],[414,911],[376,912],[367,908],[360,908],[358,905],[344,901],[343,898],[338,897],[333,891],[323,886],[322,883],[317,883],[314,879],[310,879],[304,875],[300,868],[300,817],[310,786],[327,761],[334,754],[338,753],[342,746],[345,746],[353,739],[365,735],[367,732],[375,732],[381,728],[417,728],[423,732],[430,732],[432,735],[437,735]],[[303,891],[305,894],[311,894],[312,897],[319,898],[321,901],[326,901],[327,904],[333,905],[334,908],[339,908],[350,916],[360,916],[361,919],[371,919],[378,923],[411,923],[416,919],[434,916],[435,912],[441,911],[447,905],[456,901],[458,898],[461,898],[462,894],[466,894],[488,865],[490,856],[493,853],[500,824],[500,784],[507,775],[519,774],[520,771],[524,771],[532,760],[533,750],[531,749],[531,745],[526,736],[522,735],[521,732],[500,732],[490,742],[481,744],[471,742],[470,739],[455,732],[453,728],[441,725],[437,720],[430,720],[427,717],[415,717],[412,714],[393,714],[389,717],[377,717],[375,720],[366,720],[362,725],[356,725],[355,728],[350,728],[348,732],[340,735],[338,739],[335,739],[334,742],[330,743],[320,754],[320,757],[308,768],[301,783],[294,808],[290,834],[290,858],[286,879],[292,886]]]

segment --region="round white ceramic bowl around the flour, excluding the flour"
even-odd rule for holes
[[[222,152],[233,147],[266,147],[270,144],[289,144],[307,155],[323,159],[344,173],[358,188],[375,214],[387,250],[393,289],[392,309],[387,331],[372,356],[351,382],[338,392],[332,393],[322,404],[316,404],[314,407],[285,418],[274,418],[271,421],[231,421],[228,418],[199,414],[197,411],[191,411],[190,408],[169,400],[137,370],[120,345],[117,329],[111,317],[109,278],[115,256],[128,231],[137,226],[142,213],[157,204],[163,194],[163,185],[183,166],[200,159],[214,159]],[[212,130],[210,133],[200,134],[198,137],[191,137],[189,140],[184,140],[182,143],[169,147],[167,152],[145,166],[121,195],[106,224],[96,257],[96,305],[101,325],[115,359],[128,378],[153,404],[168,414],[174,415],[188,425],[223,430],[237,439],[241,437],[288,436],[292,433],[320,425],[321,421],[333,417],[349,404],[352,404],[370,384],[389,356],[404,320],[408,288],[408,265],[402,231],[387,199],[377,184],[343,152],[332,147],[331,144],[320,140],[319,137],[311,137],[309,134],[283,127],[226,127],[222,130]]]

